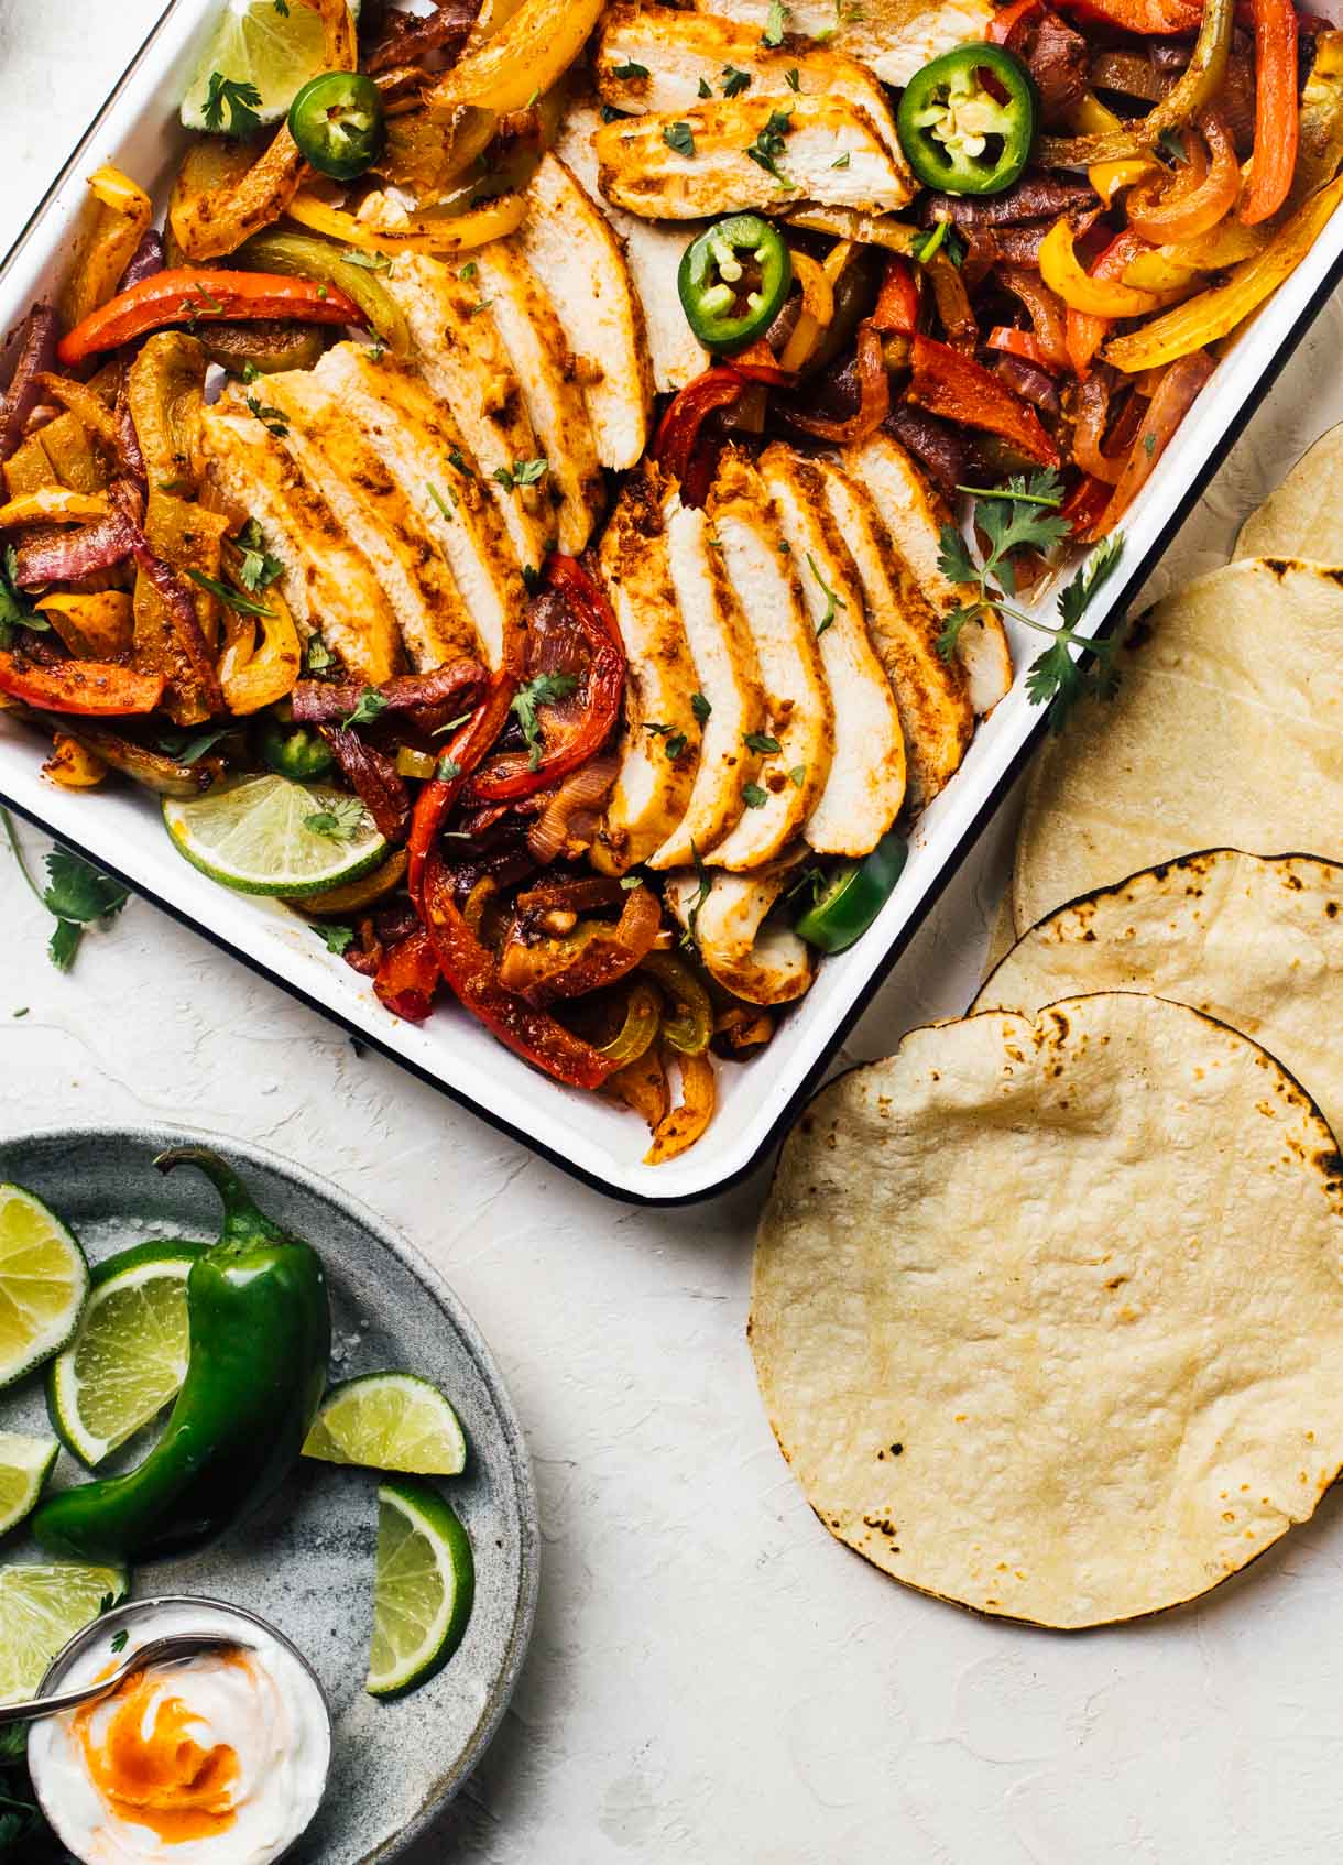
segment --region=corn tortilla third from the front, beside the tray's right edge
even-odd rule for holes
[[[1142,617],[1026,791],[1017,931],[1190,849],[1343,858],[1343,569],[1227,563]]]

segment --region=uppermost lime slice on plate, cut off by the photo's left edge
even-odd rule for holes
[[[0,1386],[69,1341],[88,1294],[88,1263],[60,1218],[21,1184],[0,1184]]]

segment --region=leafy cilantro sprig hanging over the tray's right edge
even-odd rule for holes
[[[1117,640],[1084,638],[1078,634],[1078,623],[1119,561],[1123,533],[1114,532],[1106,537],[1076,571],[1058,599],[1059,627],[1052,627],[1028,615],[1011,597],[1017,595],[1013,556],[1020,550],[1045,554],[1071,535],[1071,526],[1058,509],[1063,504],[1063,485],[1058,474],[1052,470],[1035,472],[1030,477],[1017,474],[1002,490],[981,487],[961,487],[959,490],[972,492],[976,498],[974,528],[987,539],[987,554],[983,561],[977,560],[953,524],[942,526],[938,569],[949,582],[968,584],[974,595],[944,615],[938,653],[949,660],[962,629],[987,610],[998,610],[1026,629],[1052,636],[1050,645],[1030,666],[1026,692],[1031,705],[1050,709],[1050,729],[1059,731],[1078,699],[1084,696],[1108,699],[1117,686],[1119,675],[1114,664]],[[1086,649],[1095,656],[1089,668],[1074,658],[1074,649]]]

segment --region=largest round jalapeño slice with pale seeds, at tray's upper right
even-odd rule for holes
[[[895,112],[905,157],[940,194],[1002,194],[1030,160],[1031,75],[1002,45],[959,45],[916,71]]]

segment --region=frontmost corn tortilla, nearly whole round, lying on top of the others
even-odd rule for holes
[[[1045,1626],[1207,1593],[1343,1462],[1343,1164],[1248,1037],[1069,998],[823,1089],[755,1246],[808,1501],[912,1587]]]

